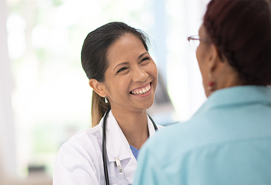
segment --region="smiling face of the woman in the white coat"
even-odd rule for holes
[[[106,96],[111,109],[142,111],[154,102],[157,85],[155,62],[134,35],[120,37],[107,52]]]

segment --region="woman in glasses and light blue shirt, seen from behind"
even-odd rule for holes
[[[143,146],[134,185],[271,185],[270,9],[209,2],[199,36],[188,37],[208,100]]]

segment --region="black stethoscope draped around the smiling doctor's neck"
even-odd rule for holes
[[[104,170],[104,177],[105,177],[105,184],[106,185],[110,185],[109,184],[109,177],[108,177],[108,169],[107,169],[107,160],[106,160],[106,135],[105,135],[105,124],[106,124],[106,119],[108,116],[108,113],[110,111],[110,108],[105,112],[104,117],[103,117],[103,125],[102,125],[102,160],[103,160],[103,170]],[[155,125],[154,120],[151,118],[151,116],[148,114],[150,120],[152,121],[154,127],[155,127],[155,131],[157,130],[157,127]],[[116,158],[115,158],[116,159]],[[120,166],[120,161],[117,157],[116,159],[116,166]]]

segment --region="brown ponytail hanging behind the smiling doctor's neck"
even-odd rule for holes
[[[104,97],[98,95],[94,90],[92,92],[91,119],[92,127],[99,124],[104,113],[111,107],[110,102],[105,103]]]

